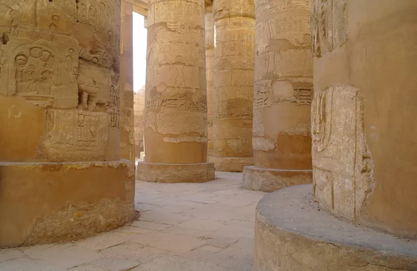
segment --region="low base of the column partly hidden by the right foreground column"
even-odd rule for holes
[[[250,165],[243,168],[242,188],[273,192],[313,182],[312,170],[273,170]]]

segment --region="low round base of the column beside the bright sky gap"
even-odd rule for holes
[[[211,162],[197,164],[160,164],[139,162],[136,167],[138,181],[156,183],[204,183],[214,180]]]

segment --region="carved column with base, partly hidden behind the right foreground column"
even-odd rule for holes
[[[256,0],[254,166],[243,187],[272,192],[311,183],[313,56],[310,3]]]

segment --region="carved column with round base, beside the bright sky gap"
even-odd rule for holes
[[[204,3],[150,0],[145,87],[145,162],[138,179],[202,182],[207,163]]]

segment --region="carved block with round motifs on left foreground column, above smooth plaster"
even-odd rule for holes
[[[76,106],[78,55],[76,42],[64,35],[58,42],[39,40],[33,44],[28,31],[14,35],[1,49],[0,83],[3,95],[18,95],[40,107]],[[46,36],[47,37],[47,36]],[[61,47],[60,42],[66,42]],[[6,65],[6,62],[8,65]]]

